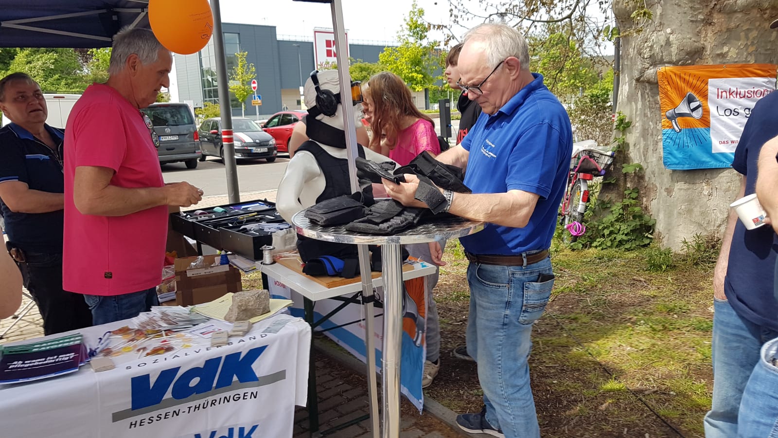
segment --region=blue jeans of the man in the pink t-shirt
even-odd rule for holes
[[[159,306],[156,287],[124,295],[84,295],[92,311],[94,325],[135,318],[138,313],[149,312],[151,306]]]

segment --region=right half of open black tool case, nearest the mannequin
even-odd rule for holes
[[[268,226],[263,227],[261,224],[268,224]],[[222,246],[227,251],[240,254],[248,259],[262,260],[261,247],[271,245],[273,242],[272,233],[275,231],[273,225],[288,226],[283,217],[275,211],[272,214],[258,215],[256,221],[219,228]],[[246,228],[254,229],[247,230]]]

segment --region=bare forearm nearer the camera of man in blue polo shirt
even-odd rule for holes
[[[537,200],[537,195],[520,190],[509,193],[454,193],[449,213],[471,221],[523,228],[532,216]]]

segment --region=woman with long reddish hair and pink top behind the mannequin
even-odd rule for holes
[[[370,149],[404,166],[428,150],[440,154],[432,118],[413,104],[411,90],[400,76],[380,72],[363,87],[363,112],[373,137]]]

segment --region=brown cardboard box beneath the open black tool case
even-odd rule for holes
[[[212,267],[219,256],[203,256],[207,267],[187,269],[197,257],[176,259],[176,303],[178,306],[202,304],[227,292],[243,290],[240,270],[232,265]]]

